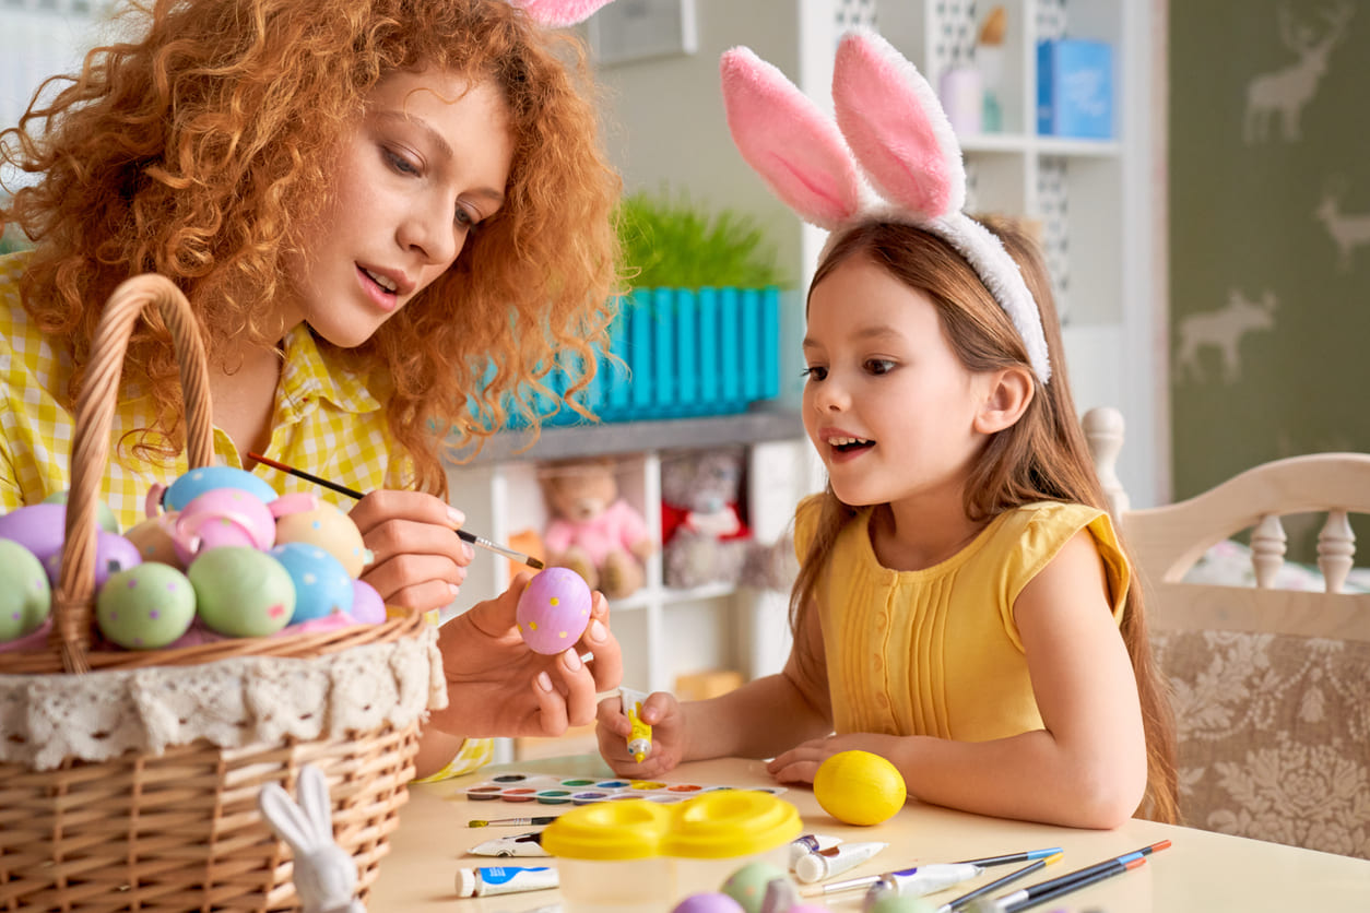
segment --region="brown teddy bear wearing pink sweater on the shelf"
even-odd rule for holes
[[[547,464],[538,472],[551,520],[547,565],[571,568],[610,600],[643,586],[643,563],[656,542],[643,515],[619,497],[612,460]]]

